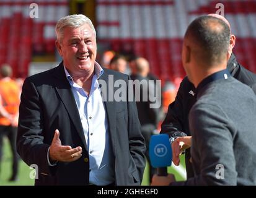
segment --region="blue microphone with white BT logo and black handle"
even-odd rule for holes
[[[158,176],[167,176],[167,166],[172,164],[172,147],[169,136],[159,134],[151,136],[149,142],[149,159],[151,165],[157,168]]]

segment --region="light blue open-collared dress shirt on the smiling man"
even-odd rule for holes
[[[115,181],[113,152],[108,132],[107,115],[98,82],[104,71],[95,62],[94,76],[88,96],[84,89],[73,81],[66,67],[64,70],[76,100],[89,151],[89,183],[95,185],[111,184]]]

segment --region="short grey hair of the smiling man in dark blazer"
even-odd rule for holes
[[[63,30],[65,27],[78,28],[84,24],[88,24],[90,26],[96,37],[96,31],[94,25],[92,24],[92,21],[83,14],[73,14],[68,15],[66,17],[62,17],[60,20],[58,20],[55,26],[57,40],[61,42],[63,37]]]

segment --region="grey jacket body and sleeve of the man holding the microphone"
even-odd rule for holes
[[[255,121],[255,94],[233,77],[200,90],[190,111],[192,160],[195,174],[201,174],[199,184],[256,185]],[[216,177],[217,167],[224,168],[223,178]]]

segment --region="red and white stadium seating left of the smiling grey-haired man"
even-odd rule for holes
[[[38,5],[38,18],[31,18]],[[68,15],[68,0],[1,0],[0,65],[11,64],[14,77],[26,77],[32,53],[55,52],[55,24]]]

